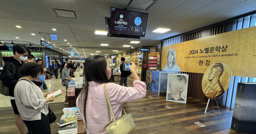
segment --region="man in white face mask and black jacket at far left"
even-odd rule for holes
[[[5,64],[2,74],[0,76],[0,80],[2,80],[4,86],[9,87],[9,98],[15,114],[15,124],[22,134],[26,134],[27,132],[24,128],[24,122],[15,103],[14,87],[17,84],[18,80],[21,78],[19,70],[23,62],[28,59],[30,50],[25,45],[18,44],[12,47],[12,52],[14,54],[13,57],[3,58]],[[13,71],[14,67],[12,63],[16,68],[15,73]]]

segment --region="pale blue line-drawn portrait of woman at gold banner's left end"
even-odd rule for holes
[[[167,64],[164,67],[165,71],[180,71],[180,67],[177,65],[176,52],[174,48],[168,51]]]

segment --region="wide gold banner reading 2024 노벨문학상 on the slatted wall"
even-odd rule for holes
[[[212,35],[162,47],[161,70],[204,74],[223,61],[233,76],[256,77],[256,27]]]

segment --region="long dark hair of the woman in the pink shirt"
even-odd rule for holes
[[[84,89],[80,92],[78,105],[82,107],[84,105],[84,109],[80,109],[80,111],[84,112],[84,119],[86,121],[86,101],[88,97],[88,87],[89,82],[96,82],[100,84],[108,83],[108,76],[106,74],[107,68],[107,59],[105,56],[94,55],[90,56],[86,59],[84,63]],[[79,108],[78,108],[79,109]]]

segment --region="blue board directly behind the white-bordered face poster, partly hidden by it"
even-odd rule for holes
[[[175,72],[160,72],[159,74],[159,91],[158,95],[161,96],[164,94],[166,96],[166,91],[167,91],[167,79],[168,79],[168,74],[177,74]]]

